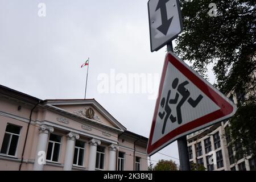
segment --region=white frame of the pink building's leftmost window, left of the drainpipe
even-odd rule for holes
[[[19,134],[10,133],[9,131],[6,131],[8,125],[12,125],[12,126],[19,127]],[[7,157],[11,157],[11,158],[17,158],[17,152],[18,152],[20,134],[22,133],[22,126],[14,125],[13,123],[7,123],[6,128],[5,128],[5,134],[6,134],[6,133],[7,133],[7,134],[10,134],[11,137],[10,137],[9,142],[8,142],[6,154],[4,154],[4,153],[1,152],[2,146],[3,146],[3,140],[2,140],[2,146],[1,146],[1,150],[0,150],[0,155],[2,155],[2,156],[7,156]],[[3,139],[5,138],[5,134],[3,135]],[[18,140],[17,140],[17,144],[16,144],[16,148],[15,148],[15,154],[14,154],[14,155],[9,155],[8,153],[9,153],[9,150],[10,150],[11,139],[13,139],[13,135],[18,136]]]

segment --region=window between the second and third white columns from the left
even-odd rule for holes
[[[77,166],[84,166],[84,146],[85,142],[76,140],[73,164]]]

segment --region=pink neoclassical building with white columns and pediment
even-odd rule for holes
[[[147,170],[147,138],[96,100],[40,100],[0,85],[0,170]]]

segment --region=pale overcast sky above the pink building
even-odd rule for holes
[[[46,16],[38,16],[45,3]],[[150,52],[147,0],[0,0],[0,84],[41,99],[95,98],[128,130],[148,137],[155,99],[99,93],[98,77],[162,73],[166,48]],[[210,73],[212,78],[212,73]],[[154,82],[155,84],[155,82]],[[176,142],[162,151],[179,158]],[[152,160],[172,159],[155,154]]]

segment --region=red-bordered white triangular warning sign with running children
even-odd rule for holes
[[[184,61],[168,52],[156,100],[147,154],[177,138],[227,119],[236,105]]]

